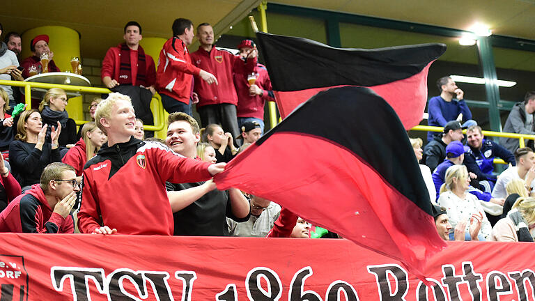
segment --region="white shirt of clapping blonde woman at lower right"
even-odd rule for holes
[[[468,220],[474,213],[483,213],[483,221],[481,222],[481,230],[479,234],[485,237],[488,240],[490,233],[493,231],[493,227],[490,226],[488,222],[487,215],[479,203],[479,199],[474,194],[469,192],[465,193],[465,199],[460,199],[456,194],[453,194],[451,191],[442,192],[437,201],[439,206],[446,208],[448,213],[449,223],[451,224],[451,230],[449,233],[453,233],[455,226],[460,220]],[[468,228],[470,223],[466,225],[466,232],[468,233]]]

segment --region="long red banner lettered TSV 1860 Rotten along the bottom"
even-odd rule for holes
[[[1,300],[533,300],[532,243],[450,242],[427,288],[348,240],[5,233]]]

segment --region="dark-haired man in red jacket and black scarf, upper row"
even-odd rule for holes
[[[125,43],[111,47],[102,61],[100,77],[111,91],[130,96],[137,118],[154,124],[150,101],[156,93],[156,66],[153,57],[139,45],[141,25],[130,21],[125,25]]]

